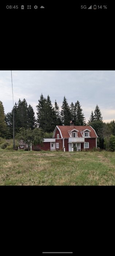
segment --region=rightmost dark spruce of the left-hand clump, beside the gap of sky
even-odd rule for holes
[[[34,110],[29,104],[27,108],[27,128],[31,128],[32,130],[36,127],[36,119],[34,114]]]

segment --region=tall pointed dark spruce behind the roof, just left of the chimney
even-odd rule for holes
[[[70,108],[67,102],[67,99],[64,96],[64,100],[61,106],[61,121],[62,124],[64,125],[70,125],[70,120],[71,120],[71,113],[70,113]]]

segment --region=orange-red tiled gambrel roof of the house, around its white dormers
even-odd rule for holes
[[[91,126],[88,126],[88,125],[85,125],[85,126],[57,125],[54,130],[53,138],[55,137],[55,132],[57,129],[60,131],[61,138],[69,138],[70,137],[69,132],[74,131],[74,129],[76,129],[78,131],[77,132],[78,138],[82,137],[81,132],[87,131],[87,130],[89,131],[90,138],[98,137],[95,130]]]

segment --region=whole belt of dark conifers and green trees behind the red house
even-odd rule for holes
[[[115,121],[104,123],[99,106],[92,110],[88,123],[85,121],[84,113],[80,102],[68,104],[63,98],[61,109],[55,100],[54,106],[50,96],[47,98],[40,95],[37,108],[37,118],[32,106],[27,104],[26,99],[19,101],[12,108],[11,112],[4,113],[3,103],[0,101],[0,140],[13,138],[13,112],[15,138],[23,138],[25,141],[32,139],[34,144],[42,143],[43,138],[52,138],[56,125],[70,125],[70,120],[74,125],[91,125],[98,136],[97,147],[101,150],[115,151]]]

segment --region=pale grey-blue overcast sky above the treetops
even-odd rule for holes
[[[45,98],[49,94],[53,106],[56,99],[60,109],[64,95],[69,105],[78,100],[86,122],[96,105],[103,121],[115,120],[115,71],[12,71],[12,82],[14,103],[25,98],[35,116],[42,93]],[[11,112],[11,71],[0,71],[0,101],[5,114]]]

